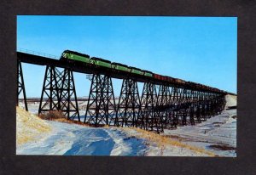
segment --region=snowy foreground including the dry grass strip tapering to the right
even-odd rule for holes
[[[17,144],[17,155],[172,155],[208,156],[178,146],[159,146],[146,138],[137,138],[137,131],[122,128],[94,128],[58,121],[45,121],[51,133]]]

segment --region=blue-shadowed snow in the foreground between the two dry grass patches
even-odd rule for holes
[[[143,139],[127,138],[113,128],[47,121],[51,134],[17,146],[17,155],[143,155]]]

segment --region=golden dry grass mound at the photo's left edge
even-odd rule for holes
[[[49,133],[51,127],[38,116],[16,107],[16,143],[17,145],[36,140],[42,133]]]

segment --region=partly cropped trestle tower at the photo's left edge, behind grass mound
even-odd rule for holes
[[[28,108],[27,108],[27,103],[26,103],[25,83],[24,83],[24,79],[23,79],[21,61],[18,59],[17,60],[17,104],[16,104],[17,106],[19,106],[19,95],[21,92],[23,93],[25,109],[27,111]]]

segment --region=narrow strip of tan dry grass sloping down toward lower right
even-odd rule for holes
[[[122,129],[124,130],[136,130],[137,133],[140,133],[137,137],[139,138],[146,138],[154,143],[158,144],[158,147],[163,150],[166,146],[168,145],[172,145],[172,146],[177,146],[177,147],[181,147],[181,148],[185,148],[185,149],[189,149],[189,150],[193,150],[197,153],[201,153],[201,154],[205,154],[205,155],[209,155],[209,156],[217,156],[214,153],[212,153],[211,151],[207,151],[195,146],[191,146],[189,144],[183,144],[177,140],[173,140],[172,138],[168,137],[168,136],[164,136],[164,135],[159,135],[156,133],[152,133],[152,132],[148,132],[146,130],[137,128],[137,127],[123,127]]]

